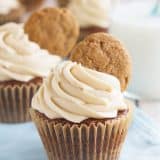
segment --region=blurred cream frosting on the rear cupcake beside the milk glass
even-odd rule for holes
[[[108,27],[109,0],[71,0],[68,8],[73,12],[82,28]]]

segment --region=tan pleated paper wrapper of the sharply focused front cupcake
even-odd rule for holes
[[[89,124],[55,123],[31,109],[49,160],[118,160],[131,114]]]

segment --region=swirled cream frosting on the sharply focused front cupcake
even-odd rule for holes
[[[80,123],[88,118],[115,118],[128,106],[117,78],[65,61],[43,82],[32,107],[50,119]]]

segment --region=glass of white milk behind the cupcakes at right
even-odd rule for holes
[[[132,56],[129,90],[155,100],[160,99],[160,17],[150,15],[153,5],[153,1],[121,5],[112,16],[110,33],[124,43]]]

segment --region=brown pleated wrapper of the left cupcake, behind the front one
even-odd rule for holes
[[[40,84],[30,82],[23,85],[0,85],[0,123],[30,121],[31,99]]]

